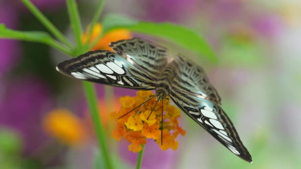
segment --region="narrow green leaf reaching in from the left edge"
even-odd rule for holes
[[[54,40],[49,34],[39,31],[22,32],[7,29],[4,24],[0,24],[0,38],[4,39],[16,39],[29,42],[41,42],[48,44],[54,48],[61,50],[64,53],[70,54],[70,50],[63,44]]]

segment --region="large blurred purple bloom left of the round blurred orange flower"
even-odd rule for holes
[[[37,150],[46,140],[40,122],[53,107],[50,96],[47,86],[32,77],[1,85],[0,125],[20,133],[26,154]]]

